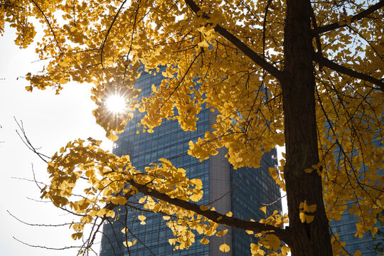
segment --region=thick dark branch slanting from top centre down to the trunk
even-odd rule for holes
[[[193,1],[193,0],[184,0],[186,4],[191,8],[191,10],[200,16],[201,14],[198,14],[199,11],[201,11],[200,7]],[[384,0],[383,0],[384,1]],[[207,20],[210,18],[207,14],[203,14],[203,18],[206,18]],[[209,25],[213,26],[213,23],[208,23]],[[249,48],[245,43],[242,43],[239,38],[233,35],[233,33],[230,33],[227,29],[223,28],[220,25],[215,25],[213,27],[216,32],[218,32],[221,36],[223,36],[225,39],[230,41],[230,43],[233,43],[234,46],[236,46],[239,50],[242,51],[248,58],[250,58],[254,63],[257,65],[260,65],[261,68],[265,69],[268,73],[270,73],[274,78],[276,78],[279,81],[284,80],[284,73],[274,67],[274,65],[270,64],[265,60],[264,58],[260,57],[257,53],[255,53],[254,50]]]

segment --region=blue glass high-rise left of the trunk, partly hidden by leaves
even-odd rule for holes
[[[159,85],[163,77],[161,70],[154,76],[142,70],[141,77],[135,87],[142,89],[143,96],[149,96],[151,85]],[[156,127],[154,132],[137,134],[137,123],[142,119],[143,113],[134,113],[134,118],[127,124],[124,132],[119,135],[114,146],[114,154],[131,156],[132,165],[144,170],[152,162],[160,158],[168,159],[178,168],[187,172],[188,178],[200,178],[203,181],[204,196],[199,204],[214,206],[220,213],[233,212],[234,217],[250,220],[265,218],[259,208],[262,203],[271,203],[280,197],[279,187],[269,175],[268,167],[277,165],[276,149],[262,157],[260,169],[234,170],[228,160],[225,159],[225,149],[220,149],[219,154],[200,162],[187,154],[188,142],[196,141],[198,137],[204,137],[204,133],[210,129],[210,124],[215,120],[215,113],[203,109],[198,114],[197,129],[194,132],[184,132],[178,122],[169,120]],[[280,201],[269,207],[281,212]],[[174,245],[169,244],[169,238],[173,238],[171,230],[165,225],[161,215],[154,213],[142,213],[137,209],[129,209],[127,215],[121,207],[119,220],[106,223],[103,228],[103,238],[100,256],[111,255],[250,255],[250,242],[252,238],[246,235],[244,230],[228,229],[225,237],[210,237],[207,245],[202,245],[198,240],[203,238],[196,234],[196,242],[188,250],[174,250]],[[137,215],[146,215],[146,225],[140,225]],[[132,233],[127,232],[128,240],[137,240],[137,243],[129,247],[129,252],[123,245],[126,235],[121,230],[127,225]],[[224,243],[230,245],[230,252],[220,252],[218,247]]]

